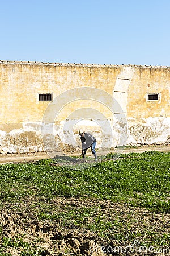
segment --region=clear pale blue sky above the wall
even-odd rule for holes
[[[1,0],[0,59],[170,66],[169,0]]]

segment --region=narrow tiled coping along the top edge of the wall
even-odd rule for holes
[[[152,66],[152,65],[135,65],[135,64],[82,64],[82,63],[50,63],[37,61],[15,61],[15,60],[0,60],[0,64],[29,64],[29,65],[52,65],[52,66],[70,66],[70,67],[137,67],[137,68],[170,68],[169,66]]]

